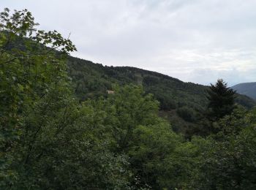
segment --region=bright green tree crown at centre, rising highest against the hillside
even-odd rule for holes
[[[114,88],[114,94],[109,98],[115,109],[116,133],[120,151],[125,151],[133,142],[134,130],[140,125],[151,125],[157,122],[158,102],[148,94],[143,96],[140,86],[124,86]]]

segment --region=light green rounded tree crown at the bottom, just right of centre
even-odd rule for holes
[[[152,189],[177,187],[184,171],[172,159],[182,138],[165,121],[140,126],[135,130],[135,135],[135,145],[129,151],[129,156],[135,173],[140,176],[140,183]]]

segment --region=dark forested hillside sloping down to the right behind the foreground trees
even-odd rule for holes
[[[154,94],[160,102],[160,115],[170,120],[177,132],[198,127],[198,121],[203,118],[207,108],[208,86],[184,83],[167,75],[135,67],[103,66],[71,56],[68,66],[79,99],[107,96],[114,84],[141,85],[146,93]],[[236,102],[247,108],[255,106],[254,100],[241,94],[236,94]]]

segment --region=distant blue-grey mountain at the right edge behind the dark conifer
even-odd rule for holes
[[[256,82],[255,83],[240,83],[235,86],[232,86],[238,94],[244,94],[256,100]]]

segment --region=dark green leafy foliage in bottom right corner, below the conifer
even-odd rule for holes
[[[215,126],[221,131],[200,149],[191,189],[255,189],[255,110],[238,109]],[[192,143],[195,144],[194,140]]]

